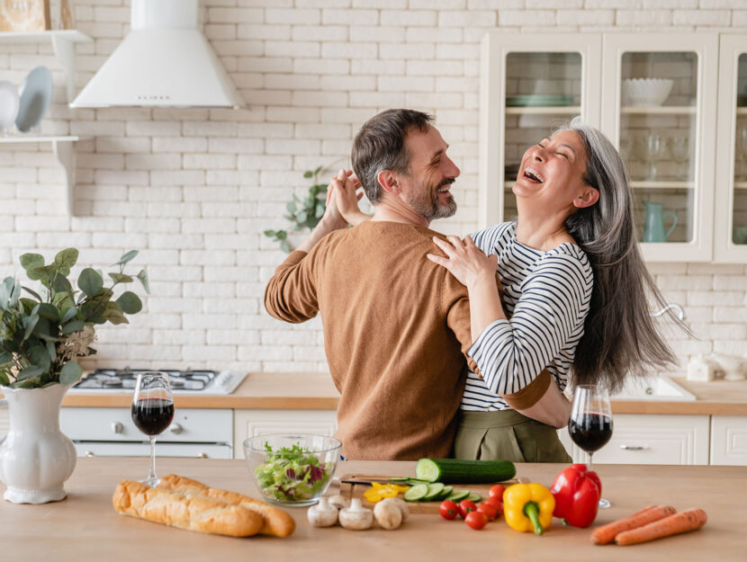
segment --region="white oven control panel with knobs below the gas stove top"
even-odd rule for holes
[[[129,408],[64,407],[59,413],[62,433],[73,441],[142,442],[148,437],[132,423]],[[174,422],[158,441],[233,442],[233,411],[177,408]]]

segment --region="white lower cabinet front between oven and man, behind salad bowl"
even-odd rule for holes
[[[244,458],[244,440],[266,433],[315,433],[338,429],[337,410],[234,410],[234,457]]]

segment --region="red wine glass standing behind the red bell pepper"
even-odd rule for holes
[[[568,433],[581,449],[589,453],[589,469],[595,451],[612,437],[612,409],[607,390],[597,385],[579,385],[573,392]],[[599,507],[609,507],[608,500],[599,499]]]

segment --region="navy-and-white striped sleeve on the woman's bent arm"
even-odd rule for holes
[[[579,260],[548,256],[524,281],[511,319],[492,322],[468,350],[485,386],[500,395],[527,387],[583,325],[590,295]]]

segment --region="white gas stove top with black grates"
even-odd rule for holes
[[[174,394],[230,394],[246,373],[229,370],[174,370],[174,369],[96,369],[85,379],[79,380],[69,392],[132,392],[141,372],[158,370],[168,373],[168,381]]]

